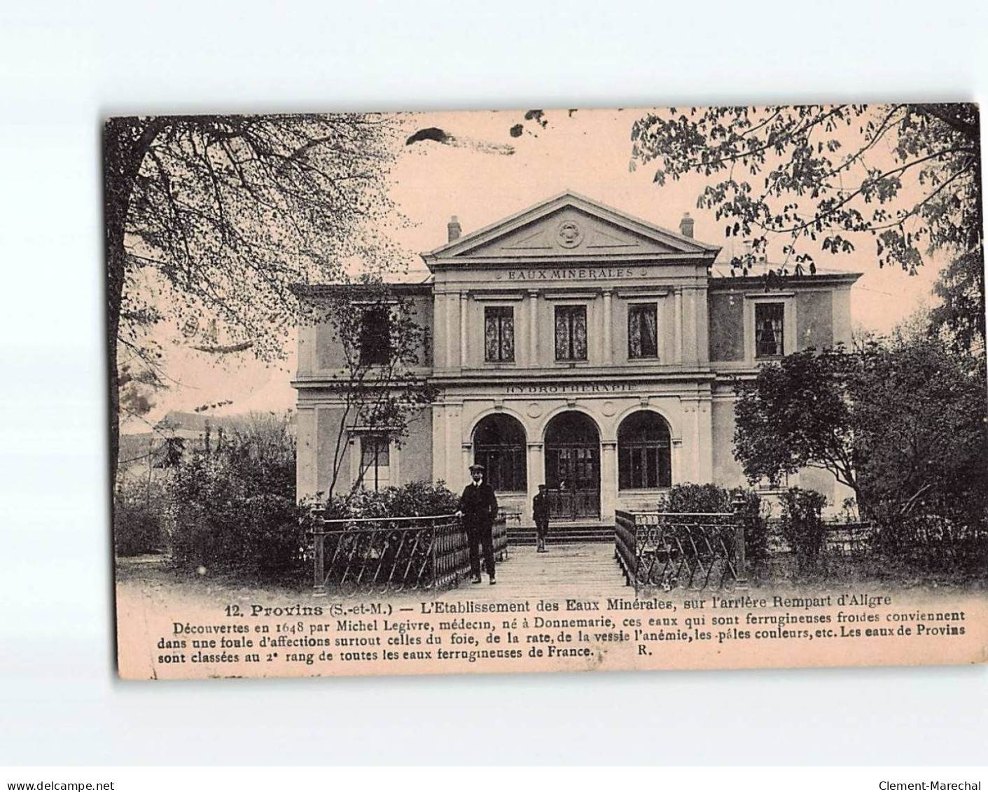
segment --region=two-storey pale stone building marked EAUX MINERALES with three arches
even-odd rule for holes
[[[554,520],[603,523],[654,507],[673,484],[743,484],[733,379],[850,341],[859,276],[785,277],[766,290],[761,277],[721,273],[719,250],[694,238],[688,215],[676,233],[571,193],[465,235],[453,218],[449,242],[422,256],[428,281],[394,286],[432,340],[420,373],[439,395],[401,447],[381,448],[372,428],[346,433],[344,468],[370,467],[365,486],[458,490],[480,461],[526,524],[541,483]],[[300,497],[326,489],[341,360],[328,326],[300,331]],[[845,497],[829,474],[797,478],[832,503]]]

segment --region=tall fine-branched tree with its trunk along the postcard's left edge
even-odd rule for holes
[[[158,116],[104,128],[111,459],[126,383],[160,384],[149,331],[208,354],[284,354],[293,283],[383,267],[384,117]],[[126,351],[126,356],[119,353]],[[138,373],[140,368],[143,373]],[[114,470],[116,474],[116,470]]]

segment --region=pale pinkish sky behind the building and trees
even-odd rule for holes
[[[678,230],[684,212],[695,220],[695,236],[725,245],[721,259],[733,254],[733,240],[724,238],[723,226],[711,211],[697,208],[704,180],[685,178],[658,186],[654,167],[629,168],[630,130],[640,110],[547,111],[543,128],[525,111],[421,113],[402,119],[406,133],[397,141],[399,153],[390,173],[390,197],[401,217],[390,234],[404,251],[396,262],[396,278],[421,279],[428,271],[418,254],[447,241],[447,223],[453,215],[463,233],[469,233],[566,190],[611,205],[656,225]],[[521,134],[512,127],[522,124]],[[447,142],[431,139],[407,144],[419,129],[442,129]],[[518,131],[516,127],[516,132]],[[816,254],[817,265],[832,270],[860,272],[852,291],[855,325],[883,333],[909,318],[922,306],[935,304],[933,285],[943,261],[934,261],[910,277],[898,269],[879,269],[874,243],[858,240],[848,255]],[[777,248],[781,243],[777,243]],[[770,260],[780,260],[770,243]],[[210,411],[216,415],[284,411],[295,401],[290,385],[294,345],[286,359],[264,364],[249,355],[214,357],[168,347],[167,370],[176,380],[155,399],[145,421],[130,421],[124,432],[148,430],[171,410],[193,410],[230,401]],[[181,372],[181,373],[178,373]]]

